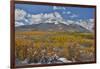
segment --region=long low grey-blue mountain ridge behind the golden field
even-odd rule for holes
[[[90,32],[77,24],[40,23],[15,27],[16,31],[55,31],[55,32]]]

